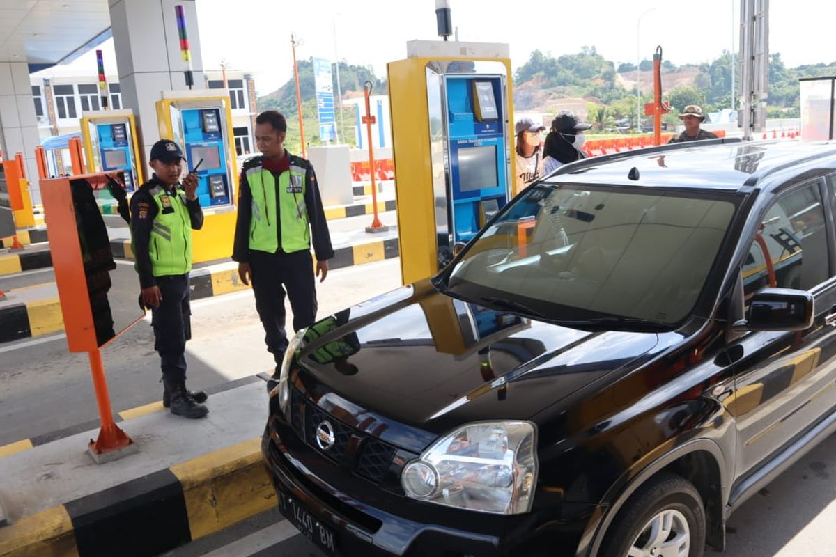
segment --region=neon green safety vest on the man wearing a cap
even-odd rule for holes
[[[185,275],[191,271],[191,216],[186,194],[169,195],[159,185],[149,193],[157,205],[148,246],[154,276]]]

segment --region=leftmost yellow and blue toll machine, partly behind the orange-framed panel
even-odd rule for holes
[[[122,172],[129,194],[145,182],[133,111],[84,112],[81,136],[87,172]]]

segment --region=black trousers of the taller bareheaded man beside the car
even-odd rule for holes
[[[256,310],[264,326],[264,342],[277,364],[282,362],[288,347],[284,331],[284,296],[290,298],[293,330],[310,327],[316,320],[316,284],[314,260],[307,250],[293,253],[250,251],[252,291]]]

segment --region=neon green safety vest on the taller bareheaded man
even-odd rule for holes
[[[278,176],[278,187],[273,173],[261,165],[244,171],[252,191],[252,219],[250,219],[251,250],[276,253],[278,227],[276,192],[282,225],[282,251],[293,253],[310,249],[308,209],[305,206],[306,169],[290,165],[290,170]]]

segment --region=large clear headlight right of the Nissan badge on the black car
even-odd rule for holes
[[[531,509],[537,432],[530,422],[469,423],[433,443],[400,474],[405,493],[486,513]]]

